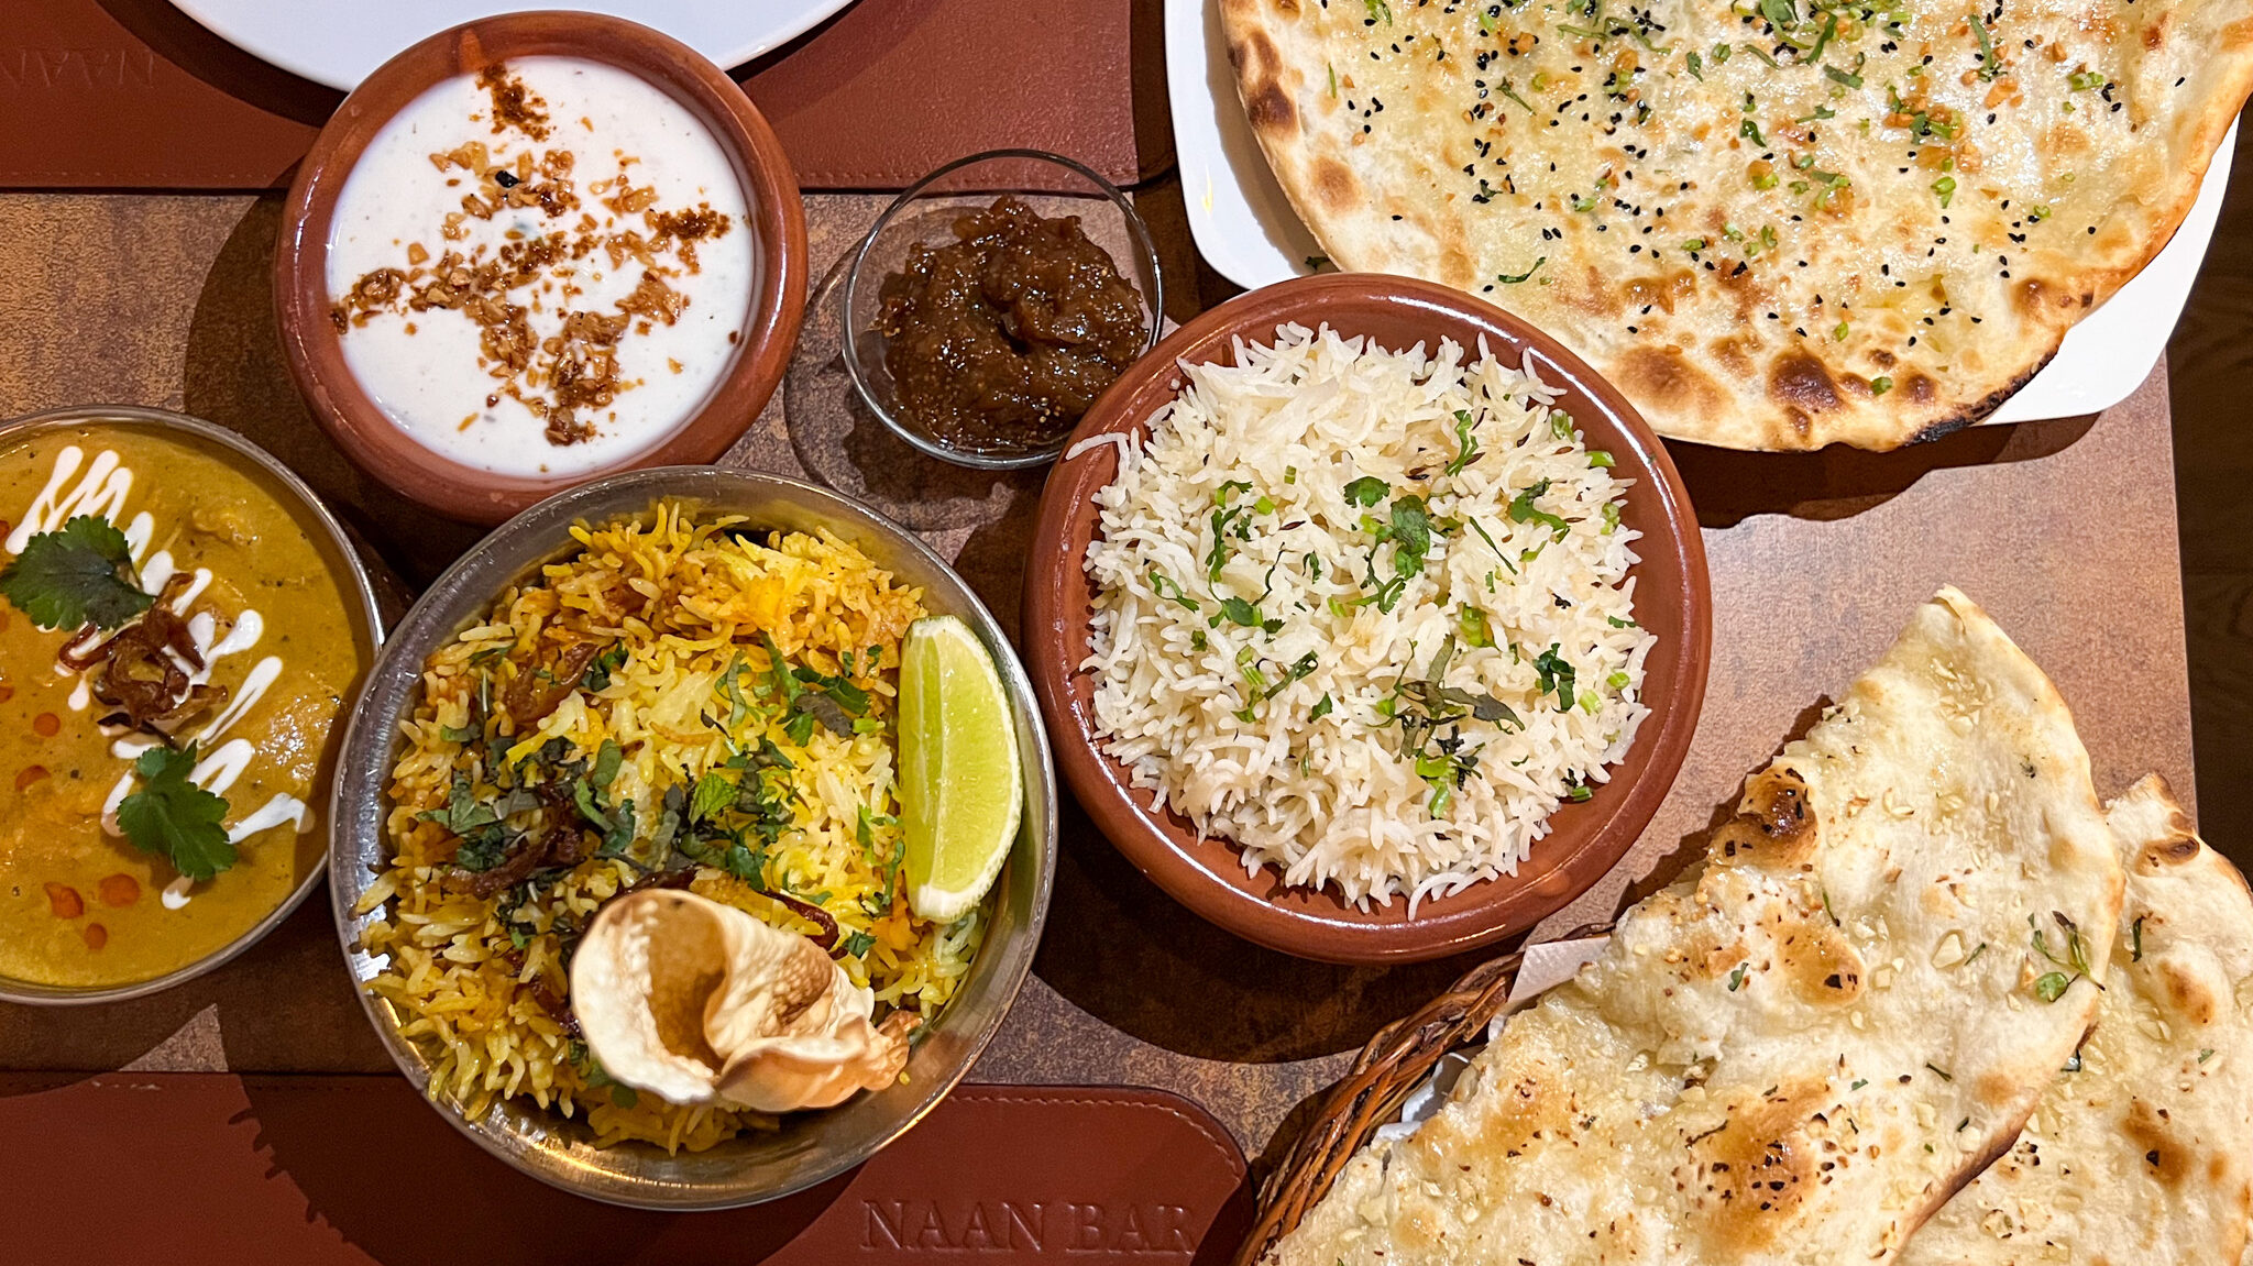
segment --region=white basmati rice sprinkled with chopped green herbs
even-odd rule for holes
[[[1485,349],[1286,324],[1235,360],[1104,439],[1106,750],[1246,867],[1363,908],[1514,874],[1649,712],[1629,482]]]

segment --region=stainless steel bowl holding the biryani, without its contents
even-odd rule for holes
[[[433,1102],[478,1147],[543,1183],[613,1205],[723,1210],[786,1196],[861,1165],[906,1133],[969,1072],[1016,1000],[1048,917],[1048,888],[1057,865],[1057,775],[1032,683],[1000,626],[953,568],[879,514],[795,480],[707,466],[631,471],[547,498],[487,536],[408,610],[369,674],[345,732],[345,757],[329,809],[338,833],[336,865],[329,870],[336,933],[360,984],[360,1005],[408,1081],[428,1093],[430,1059],[399,1036],[390,1002],[365,989],[381,960],[358,948],[367,917],[354,910],[390,858],[383,786],[399,757],[399,719],[415,707],[424,660],[478,619],[502,588],[568,554],[575,547],[572,523],[647,514],[660,498],[746,514],[759,527],[827,527],[881,568],[921,586],[933,613],[962,617],[994,653],[1025,761],[1025,824],[1000,872],[994,924],[962,991],[937,1014],[908,1059],[903,1086],[858,1095],[822,1113],[791,1115],[780,1133],[739,1135],[710,1151],[680,1156],[640,1142],[597,1149],[579,1120],[516,1099],[500,1102],[478,1120],[469,1120],[453,1102]]]

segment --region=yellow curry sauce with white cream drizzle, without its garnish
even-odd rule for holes
[[[124,529],[144,590],[182,577],[169,606],[223,705],[173,743],[198,741],[189,782],[228,800],[239,849],[189,881],[119,833],[133,759],[158,739],[104,728],[90,674],[56,660],[74,628],[0,604],[0,978],[115,987],[225,948],[320,867],[329,730],[372,642],[320,525],[216,444],[131,421],[0,442],[5,556],[79,514]]]

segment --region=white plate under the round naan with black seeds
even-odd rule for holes
[[[1167,0],[1165,74],[1174,108],[1174,153],[1181,160],[1196,250],[1221,277],[1246,288],[1311,273],[1307,259],[1323,255],[1323,248],[1275,185],[1259,140],[1244,119],[1221,41],[1219,0]],[[2206,243],[2215,237],[2235,146],[2237,126],[2230,124],[2174,241],[2102,309],[2066,331],[2057,358],[1987,414],[1987,421],[2100,412],[2152,376],[2174,320],[2183,315]]]

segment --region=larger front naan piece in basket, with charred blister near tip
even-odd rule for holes
[[[2048,678],[1956,590],[1746,784],[1699,870],[1363,1149],[1280,1266],[1870,1264],[2019,1135],[2118,926]],[[1987,946],[1971,953],[1974,946]],[[2084,955],[2104,971],[2109,935]]]

